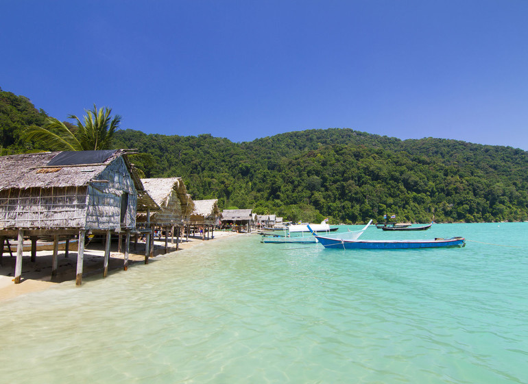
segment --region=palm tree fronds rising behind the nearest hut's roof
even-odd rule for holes
[[[119,129],[121,116],[115,115],[112,119],[112,108],[99,108],[93,105],[93,110],[86,110],[84,122],[75,115],[77,126],[67,127],[54,117],[49,117],[43,127],[33,125],[26,128],[25,139],[38,140],[49,149],[57,151],[90,151],[97,149],[110,149],[115,132]]]

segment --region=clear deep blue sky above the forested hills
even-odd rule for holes
[[[61,120],[528,150],[528,1],[0,0],[0,87]]]

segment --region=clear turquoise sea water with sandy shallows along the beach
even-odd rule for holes
[[[0,302],[0,381],[527,383],[528,223],[362,238],[457,235],[472,241],[344,251],[240,235]]]

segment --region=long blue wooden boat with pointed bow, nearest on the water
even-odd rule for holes
[[[324,248],[344,250],[398,250],[418,248],[449,248],[464,247],[466,239],[452,237],[451,239],[436,238],[433,240],[346,240],[314,235]]]

